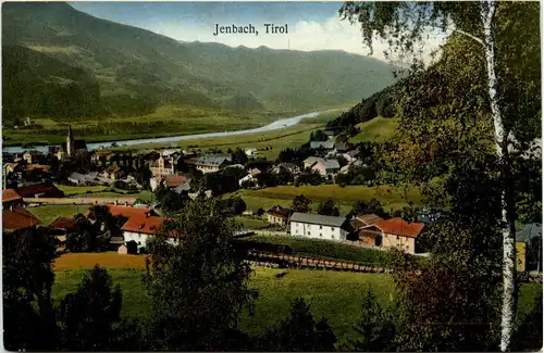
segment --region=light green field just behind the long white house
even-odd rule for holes
[[[399,210],[408,205],[409,201],[419,204],[423,201],[417,188],[410,187],[394,188],[388,186],[366,187],[366,186],[346,186],[320,185],[320,186],[279,186],[259,190],[238,190],[234,192],[242,197],[246,202],[247,209],[257,211],[259,207],[268,210],[276,204],[287,207],[297,194],[304,194],[312,201],[310,207],[318,210],[320,201],[333,199],[336,201],[342,215],[351,210],[355,201],[370,201],[372,198],[380,200],[386,211]]]

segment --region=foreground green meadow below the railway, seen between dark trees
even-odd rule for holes
[[[310,269],[288,269],[283,278],[275,278],[280,269],[255,267],[250,286],[259,291],[256,315],[244,315],[242,327],[250,333],[262,332],[279,323],[289,312],[289,301],[302,297],[310,305],[316,318],[326,316],[337,337],[351,333],[351,327],[360,315],[360,298],[366,286],[376,292],[379,301],[386,303],[392,295],[393,278],[383,274],[356,274]],[[109,270],[113,282],[123,290],[122,315],[125,317],[145,317],[150,311],[150,298],[141,281],[141,270]],[[83,278],[82,270],[55,272],[52,295],[55,303],[75,291]],[[534,295],[542,291],[542,286],[528,283],[521,287],[520,312],[532,310]]]

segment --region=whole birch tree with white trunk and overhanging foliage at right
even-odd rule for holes
[[[528,10],[532,10],[534,14],[531,15]],[[506,28],[510,27],[511,30],[511,27],[528,26],[524,29],[534,29],[534,18],[539,16],[539,4],[497,3],[490,0],[481,0],[480,2],[418,3],[346,2],[339,13],[351,23],[360,23],[363,43],[370,47],[371,52],[373,38],[378,36],[388,42],[388,50],[385,51],[386,56],[391,58],[393,53],[397,53],[406,59],[411,55],[410,68],[412,73],[423,70],[418,55],[413,54],[421,52],[421,45],[428,39],[429,33],[432,30],[448,31],[453,29],[454,33],[475,42],[478,50],[484,53],[489,96],[486,110],[493,122],[494,144],[497,160],[502,166],[503,305],[500,349],[506,351],[511,340],[517,304],[515,295],[516,204],[509,147],[515,142],[520,144],[520,140],[527,142],[531,138],[531,134],[528,134],[528,127],[534,128],[537,126],[536,124],[527,124],[527,118],[531,118],[531,114],[534,114],[535,110],[526,111],[521,105],[528,105],[527,102],[516,100],[514,97],[516,93],[520,96],[520,87],[523,85],[523,75],[519,74],[518,68],[521,65],[520,58],[527,58],[529,51],[540,59],[537,45],[531,39],[519,40],[520,38],[514,38],[512,34],[508,34]],[[497,20],[499,16],[503,16],[502,20]],[[533,26],[531,27],[531,25]],[[537,27],[536,33],[533,31],[532,34],[534,37],[539,37]],[[496,55],[497,48],[504,49],[498,53],[498,56]],[[521,54],[516,58],[516,53]],[[512,58],[515,60],[511,60]],[[497,72],[503,74],[503,79],[498,77]],[[512,72],[515,73],[512,74]],[[526,85],[532,85],[532,83]],[[510,91],[515,93],[505,93]],[[527,91],[524,93],[527,94]],[[537,93],[540,98],[540,90]],[[527,97],[522,93],[521,96]],[[536,111],[537,114],[534,115],[540,115],[540,106]],[[518,116],[520,112],[522,112],[521,116]],[[522,138],[515,139],[515,135]],[[532,136],[532,138],[534,137]],[[527,148],[527,143],[516,147],[518,149]]]

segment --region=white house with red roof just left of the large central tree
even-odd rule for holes
[[[161,230],[164,224],[164,218],[157,216],[132,216],[121,227],[123,230],[125,244],[129,241],[135,241],[138,249],[145,248],[147,241],[154,237]],[[174,238],[169,238],[170,243],[176,243]]]

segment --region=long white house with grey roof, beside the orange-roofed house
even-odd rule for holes
[[[305,238],[346,240],[350,226],[346,217],[295,212],[290,216],[290,235]]]

